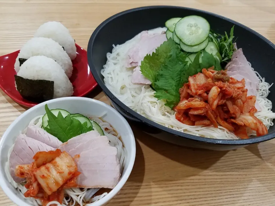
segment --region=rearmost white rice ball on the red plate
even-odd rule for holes
[[[64,47],[71,60],[76,58],[74,39],[70,35],[70,31],[62,23],[57,21],[48,21],[37,29],[34,37],[46,37],[53,39]]]

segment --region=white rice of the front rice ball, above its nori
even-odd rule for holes
[[[54,98],[72,96],[73,87],[61,66],[46,56],[33,56],[25,61],[18,76],[31,80],[54,81]]]

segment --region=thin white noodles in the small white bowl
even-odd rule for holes
[[[100,117],[104,116],[105,114],[106,114],[106,112],[102,113]],[[36,126],[41,127],[42,126],[42,117],[43,117],[43,115],[36,116],[35,118],[33,118],[30,121],[30,124],[34,124]],[[94,121],[96,121],[99,124],[99,126],[101,126],[102,130],[104,131],[104,134],[110,140],[109,144],[111,146],[115,146],[117,148],[117,159],[119,160],[120,172],[122,174],[123,168],[125,167],[124,160],[127,159],[127,151],[126,151],[125,147],[123,146],[123,143],[119,139],[120,134],[117,134],[116,131],[114,130],[114,128],[108,122],[104,122],[103,120],[101,120],[98,117],[93,117],[92,119]],[[27,128],[25,128],[22,133],[26,134],[26,130],[27,130]],[[9,151],[7,154],[8,159],[5,164],[5,174],[7,176],[7,179],[13,187],[17,188],[19,195],[21,197],[23,197],[30,205],[41,206],[42,204],[39,199],[34,199],[32,197],[26,198],[24,196],[24,193],[27,191],[27,189],[24,187],[25,183],[16,183],[11,177],[11,174],[9,172],[9,157],[13,150],[13,146],[14,146],[14,144],[11,146],[11,148],[9,148]],[[105,192],[101,195],[97,195],[97,196],[93,197],[95,195],[95,193],[97,193],[100,189],[101,188],[86,188],[86,189],[85,188],[83,188],[83,189],[70,188],[70,189],[66,189],[64,191],[64,194],[65,194],[65,197],[68,197],[68,199],[66,199],[64,197],[62,204],[60,204],[57,201],[51,201],[46,206],[50,206],[50,205],[51,206],[55,206],[55,205],[57,205],[57,206],[60,206],[60,205],[74,206],[76,203],[78,203],[80,206],[92,205],[94,202],[102,199],[103,197],[105,197],[108,194],[107,192]],[[86,204],[86,202],[89,202],[89,203]]]

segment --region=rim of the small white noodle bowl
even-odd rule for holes
[[[133,165],[135,162],[135,155],[136,155],[136,144],[135,144],[135,138],[134,138],[134,134],[133,131],[129,125],[129,123],[126,121],[126,119],[117,111],[115,110],[113,107],[105,104],[104,102],[101,102],[99,100],[95,100],[95,99],[91,99],[91,98],[86,98],[86,97],[63,97],[63,98],[57,98],[57,99],[52,99],[52,100],[48,100],[46,102],[42,102],[28,110],[26,110],[24,113],[22,113],[20,116],[18,116],[11,124],[10,126],[7,128],[7,130],[4,132],[1,140],[0,140],[0,153],[1,150],[3,149],[3,146],[5,144],[5,140],[9,137],[8,134],[9,132],[14,128],[15,124],[17,124],[17,122],[19,121],[23,121],[23,119],[25,118],[25,116],[27,114],[32,113],[36,108],[38,107],[43,107],[45,106],[45,104],[48,103],[52,103],[52,102],[60,102],[60,104],[63,101],[70,101],[70,100],[79,100],[79,101],[88,101],[90,102],[90,105],[93,104],[100,104],[102,106],[104,106],[105,108],[108,108],[110,110],[112,110],[115,115],[117,117],[121,118],[121,124],[124,125],[125,129],[129,132],[129,138],[130,138],[130,147],[131,147],[131,153],[128,152],[128,158],[129,158],[129,165],[124,173],[123,178],[120,178],[119,182],[117,183],[117,185],[115,185],[115,187],[105,196],[103,197],[101,200],[93,203],[93,206],[100,206],[100,205],[104,205],[106,204],[108,201],[110,201],[123,187],[123,185],[126,183],[126,181],[128,180],[131,171],[133,169]],[[5,177],[5,173],[2,173],[0,170],[0,186],[3,189],[3,191],[5,192],[5,194],[9,197],[9,199],[11,199],[11,201],[13,201],[15,204],[17,205],[21,205],[21,206],[31,206],[29,203],[26,203],[24,201],[22,201],[18,195],[16,195],[15,193],[13,193],[13,191],[10,189],[11,184],[7,182],[5,182],[5,180],[7,181],[6,177]]]

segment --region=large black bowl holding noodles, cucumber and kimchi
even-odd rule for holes
[[[244,140],[219,140],[194,136],[176,130],[169,129],[157,124],[118,100],[105,86],[100,71],[106,64],[107,52],[112,51],[112,45],[123,44],[133,38],[141,31],[164,27],[167,19],[172,17],[183,17],[188,15],[199,15],[207,19],[211,29],[218,33],[230,31],[235,25],[234,35],[237,38],[237,46],[243,48],[248,61],[266,81],[272,83],[275,71],[275,45],[268,39],[253,31],[252,29],[225,17],[184,7],[173,6],[150,6],[130,9],[113,15],[101,23],[93,32],[88,44],[88,62],[93,76],[103,92],[110,98],[113,106],[130,122],[140,126],[140,129],[154,137],[172,142],[174,144],[206,148],[211,150],[231,150],[244,147],[249,144],[263,142],[275,137],[274,126],[270,127],[269,134],[244,139]],[[275,86],[270,88],[269,100],[275,102]]]

